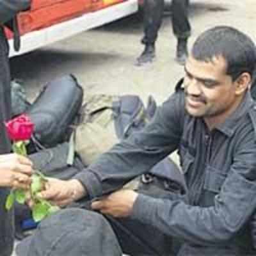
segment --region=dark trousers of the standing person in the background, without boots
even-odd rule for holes
[[[172,0],[172,28],[177,38],[188,38],[191,26],[188,20],[189,0]],[[144,2],[144,37],[143,44],[154,44],[161,26],[164,0],[145,0]]]

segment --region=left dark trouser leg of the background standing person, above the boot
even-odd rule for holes
[[[164,0],[145,0],[144,3],[144,37],[143,44],[154,44],[161,26]]]

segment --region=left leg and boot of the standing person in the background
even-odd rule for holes
[[[161,26],[164,0],[145,0],[143,6],[144,36],[141,40],[145,49],[137,59],[137,65],[151,62],[155,57],[155,42]]]

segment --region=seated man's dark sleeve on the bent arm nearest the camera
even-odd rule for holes
[[[249,133],[237,143],[234,163],[220,193],[214,198],[214,205],[199,207],[180,200],[138,195],[132,218],[190,243],[213,245],[227,242],[244,227],[256,208],[255,132]]]

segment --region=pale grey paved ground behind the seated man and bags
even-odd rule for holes
[[[164,14],[157,40],[157,59],[147,67],[133,65],[143,49],[141,17],[134,15],[13,58],[12,76],[24,80],[29,99],[52,78],[73,73],[85,93],[136,93],[143,100],[151,94],[161,103],[183,74],[183,67],[174,61],[176,42],[168,15]],[[205,29],[223,24],[242,29],[256,42],[255,0],[191,0],[190,16],[189,45]]]

